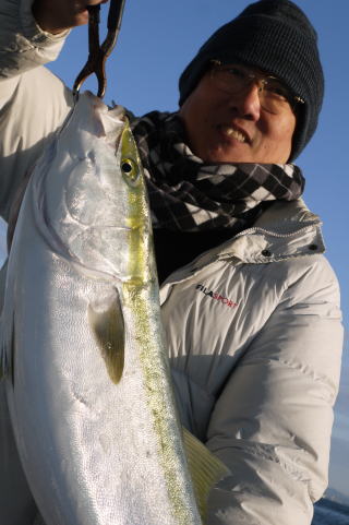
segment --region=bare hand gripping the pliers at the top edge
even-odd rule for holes
[[[34,0],[33,14],[41,29],[53,35],[87,24],[88,5],[108,0]]]

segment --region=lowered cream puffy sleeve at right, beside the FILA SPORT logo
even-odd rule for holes
[[[210,492],[209,525],[311,524],[327,485],[341,345],[338,285],[321,258],[287,288],[217,399],[206,444],[232,474]]]

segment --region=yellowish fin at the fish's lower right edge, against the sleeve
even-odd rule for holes
[[[230,474],[230,470],[184,427],[183,438],[197,509],[203,523],[206,523],[208,493],[219,479]]]

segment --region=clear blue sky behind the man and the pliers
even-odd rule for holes
[[[330,486],[349,496],[349,242],[345,226],[349,203],[349,2],[298,0],[318,33],[326,92],[318,129],[297,159],[306,179],[304,198],[323,222],[327,258],[341,286],[346,329],[345,368],[336,407]],[[244,0],[127,0],[118,45],[108,60],[105,100],[121,104],[136,115],[152,109],[176,110],[178,77],[201,44],[219,25],[246,7]],[[101,36],[107,7],[103,7]],[[60,58],[50,65],[72,86],[87,59],[86,27],[74,29]],[[94,81],[84,85],[95,91]],[[1,250],[1,240],[0,240]]]

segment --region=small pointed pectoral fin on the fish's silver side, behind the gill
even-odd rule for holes
[[[124,320],[118,291],[89,303],[87,315],[109,377],[113,383],[119,383],[124,366]]]

